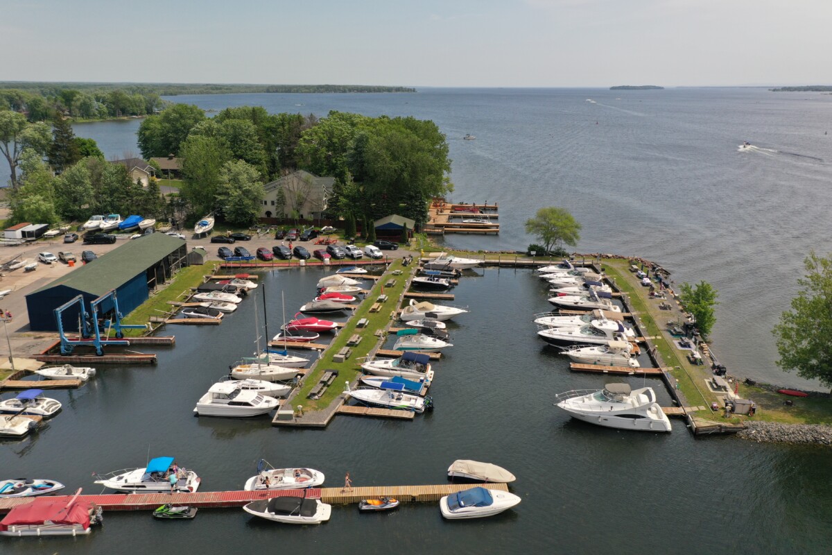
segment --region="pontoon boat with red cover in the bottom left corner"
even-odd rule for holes
[[[59,498],[35,498],[17,505],[0,520],[0,536],[83,536],[102,523],[102,508],[78,501],[81,489],[67,503]]]

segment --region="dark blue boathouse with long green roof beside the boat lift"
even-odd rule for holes
[[[90,301],[110,290],[116,290],[118,308],[126,316],[147,300],[151,290],[187,265],[187,254],[184,240],[164,233],[131,240],[26,295],[29,326],[32,331],[57,331],[53,310],[58,306],[83,295],[88,308]],[[112,308],[111,300],[106,300],[100,311]],[[65,330],[77,330],[78,310],[67,310],[62,320]]]

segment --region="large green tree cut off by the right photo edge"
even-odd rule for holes
[[[832,258],[811,251],[803,262],[805,276],[797,281],[791,310],[780,315],[773,333],[786,372],[832,387]]]

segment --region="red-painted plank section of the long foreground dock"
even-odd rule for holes
[[[304,497],[319,499],[320,488],[284,489],[270,492],[196,492],[196,493],[106,493],[104,495],[82,495],[78,501],[96,503],[104,511],[152,511],[165,503],[187,505],[198,508],[242,507],[246,503],[277,497]],[[66,501],[71,496],[56,496],[52,499]],[[0,499],[0,513],[7,513],[18,505],[30,503],[32,498]]]

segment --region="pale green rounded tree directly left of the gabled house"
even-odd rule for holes
[[[220,170],[220,186],[216,203],[225,220],[235,225],[251,225],[260,216],[263,182],[260,171],[245,161],[227,161]]]

